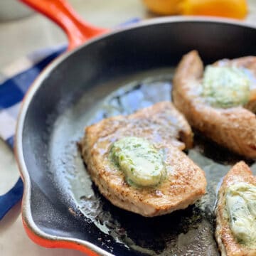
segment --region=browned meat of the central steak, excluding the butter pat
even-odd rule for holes
[[[165,151],[168,174],[156,188],[129,186],[122,171],[110,161],[112,142],[130,136],[148,139]],[[186,208],[206,192],[205,174],[180,150],[192,142],[186,119],[171,102],[160,102],[129,116],[110,117],[87,127],[81,145],[92,181],[108,200],[134,213],[155,216]]]

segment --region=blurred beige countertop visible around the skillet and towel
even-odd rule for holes
[[[151,18],[140,0],[69,0],[86,21],[102,27],[113,27],[130,18]],[[250,14],[245,22],[256,24],[256,1],[248,1]],[[65,43],[63,32],[38,14],[16,21],[0,22],[0,70],[17,58],[40,48]],[[11,150],[0,140],[0,195],[14,185],[18,170]],[[33,244],[23,230],[20,204],[0,221],[0,255],[82,255],[73,250],[50,250]]]

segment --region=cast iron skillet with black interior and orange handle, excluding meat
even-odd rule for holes
[[[41,11],[54,10],[55,21],[66,30],[71,24],[82,38],[78,20],[63,1],[23,1],[44,3]],[[102,31],[91,28],[94,34]],[[211,63],[256,55],[255,42],[256,29],[235,21],[158,18],[98,36],[53,61],[26,95],[16,133],[29,237],[39,245],[87,255],[218,255],[216,189],[239,156],[196,134],[196,146],[187,153],[206,171],[207,195],[186,210],[143,218],[102,198],[77,143],[87,124],[171,100],[173,67],[189,50],[197,49]],[[76,45],[73,41],[70,48]]]

